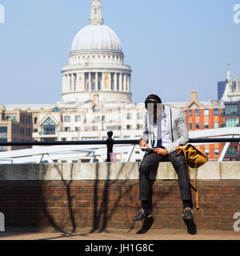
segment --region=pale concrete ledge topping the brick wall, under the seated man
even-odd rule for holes
[[[136,180],[138,162],[0,165],[0,180]],[[195,170],[190,168],[190,178]],[[178,179],[170,162],[160,162],[151,178]],[[240,162],[206,162],[198,168],[198,180],[240,179]]]

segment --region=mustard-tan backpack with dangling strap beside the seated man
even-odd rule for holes
[[[176,155],[183,152],[185,158],[186,158],[186,168],[187,168],[187,174],[190,179],[190,170],[189,166],[191,168],[195,168],[195,178],[194,178],[194,186],[190,182],[191,187],[196,192],[196,208],[199,209],[198,205],[198,190],[197,190],[197,176],[198,176],[198,167],[202,166],[204,163],[208,161],[208,156],[205,154],[202,150],[198,149],[197,147],[187,144],[185,146],[178,146],[176,147]]]

